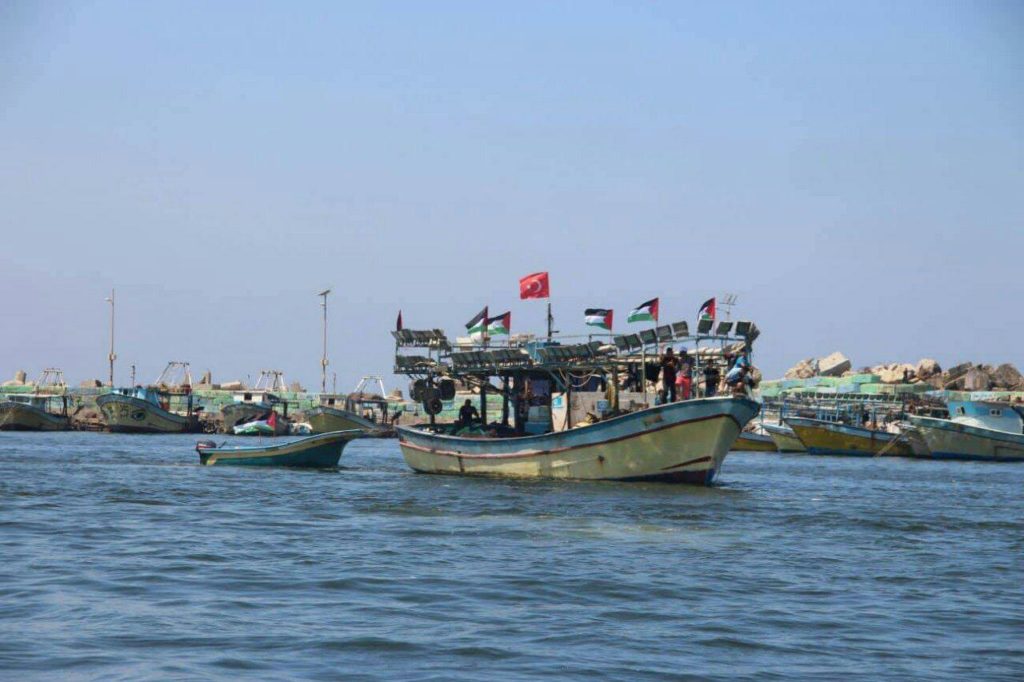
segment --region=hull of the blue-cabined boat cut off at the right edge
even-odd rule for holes
[[[910,423],[934,459],[1024,462],[1024,435],[931,417]]]

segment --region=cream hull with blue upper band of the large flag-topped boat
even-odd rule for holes
[[[415,471],[468,476],[706,485],[759,406],[736,397],[673,402],[536,436],[467,438],[398,427]]]

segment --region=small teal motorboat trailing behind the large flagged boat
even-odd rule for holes
[[[203,466],[302,467],[328,469],[338,466],[349,440],[362,434],[358,429],[321,433],[270,445],[218,446],[211,440],[196,444]]]

